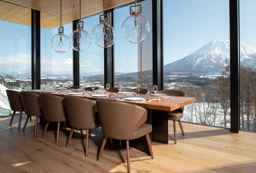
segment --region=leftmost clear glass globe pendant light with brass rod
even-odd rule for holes
[[[52,50],[57,53],[66,53],[70,49],[69,37],[64,35],[64,27],[59,27],[59,32],[51,39]]]

